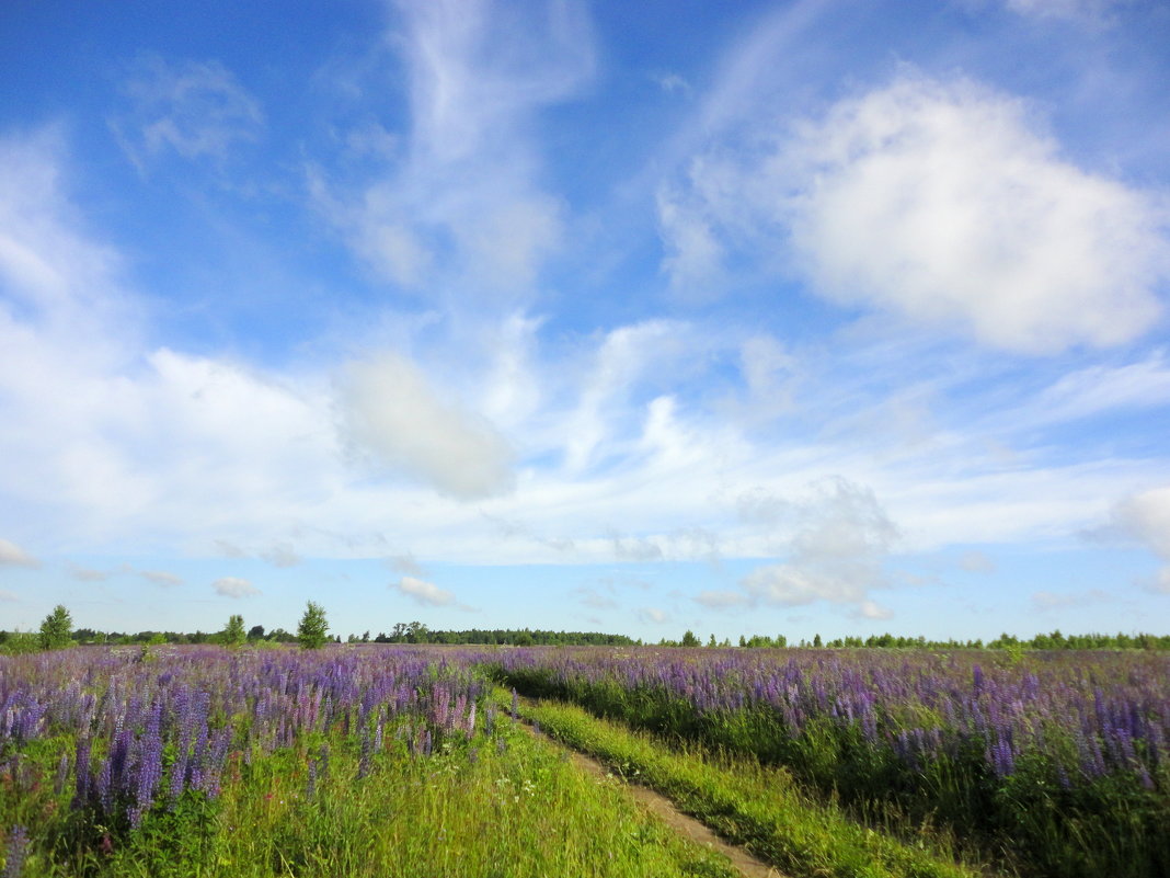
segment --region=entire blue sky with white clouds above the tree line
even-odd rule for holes
[[[1170,6],[8,0],[0,629],[1170,632]]]

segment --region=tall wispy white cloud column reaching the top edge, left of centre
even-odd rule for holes
[[[523,297],[562,239],[531,122],[592,74],[585,9],[556,1],[521,12],[493,0],[394,8],[390,43],[408,71],[410,142],[392,169],[344,194],[315,173],[315,200],[400,287]]]

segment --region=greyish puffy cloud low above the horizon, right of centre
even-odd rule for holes
[[[885,618],[868,598],[899,528],[873,492],[845,479],[815,486],[796,506],[787,560],[749,572],[741,587],[753,601],[799,606],[817,601],[854,604],[867,618]]]

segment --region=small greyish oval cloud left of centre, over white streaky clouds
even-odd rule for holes
[[[512,450],[486,419],[440,399],[407,359],[387,354],[352,364],[337,384],[351,441],[380,464],[474,500],[512,488]]]

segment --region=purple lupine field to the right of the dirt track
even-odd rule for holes
[[[521,691],[789,767],[1026,874],[1170,874],[1170,658],[600,650],[501,654]]]

